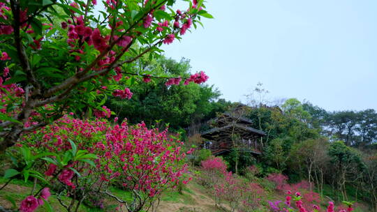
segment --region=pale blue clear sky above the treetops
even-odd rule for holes
[[[179,7],[186,8],[186,3]],[[203,20],[165,56],[191,60],[226,100],[297,98],[330,111],[377,109],[376,0],[207,0]]]

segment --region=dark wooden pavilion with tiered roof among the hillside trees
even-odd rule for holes
[[[233,112],[224,113],[210,123],[214,128],[201,133],[204,140],[202,148],[210,149],[215,156],[230,152],[233,148],[256,155],[262,153],[260,137],[266,134],[251,128],[253,122],[250,119]]]

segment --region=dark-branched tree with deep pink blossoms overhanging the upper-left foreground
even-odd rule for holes
[[[98,10],[96,0],[1,0],[0,151],[66,111],[110,116],[101,107],[106,96],[132,96],[118,82],[205,82],[203,72],[183,79],[138,69],[141,56],[153,57],[201,24],[200,17],[212,17],[203,0],[176,11],[174,3],[107,0]]]

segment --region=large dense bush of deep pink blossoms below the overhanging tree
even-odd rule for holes
[[[180,145],[181,142],[168,137],[167,129],[149,130],[144,123],[128,126],[124,121],[112,126],[105,120],[64,116],[24,135],[18,144],[22,147],[16,149],[31,150],[31,157],[42,156],[34,162],[38,166],[32,165],[22,172],[44,172],[33,176],[51,184],[58,198],[69,195],[76,200],[66,206],[67,211],[78,208],[94,191],[114,197],[108,190],[114,183],[130,191],[133,197],[132,202],[117,198],[119,202],[128,211],[140,211],[153,206],[164,190],[188,182],[183,177],[186,154]],[[40,192],[43,199],[49,196],[49,190]],[[35,197],[27,197],[21,208],[34,211],[34,206],[42,203],[34,204]]]

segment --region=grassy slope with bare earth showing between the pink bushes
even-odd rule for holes
[[[263,181],[260,179],[260,181]],[[5,179],[0,178],[0,184],[5,183]],[[24,197],[26,197],[33,186],[32,182],[25,183],[24,181],[20,180],[14,180],[12,183],[10,183],[6,188],[0,191],[0,205],[4,206],[6,208],[13,207],[13,204],[9,199],[14,199],[14,204],[17,206],[20,205],[20,202]],[[38,189],[38,188],[37,188]],[[124,190],[120,190],[117,188],[111,188],[110,191],[116,195],[117,197],[120,197],[121,199],[128,200],[131,198],[129,192],[125,192]],[[226,205],[223,205],[223,209],[220,209],[215,206],[214,199],[212,199],[211,195],[209,195],[210,191],[206,188],[199,185],[195,180],[191,181],[186,188],[184,188],[184,191],[182,194],[179,194],[176,191],[168,191],[165,192],[163,197],[161,198],[160,206],[158,207],[158,212],[224,212],[224,211],[230,211],[229,207]],[[325,187],[324,195],[327,196],[334,196],[335,194],[332,192],[330,187]],[[10,197],[10,198],[9,198]],[[284,195],[274,192],[272,190],[269,190],[268,195],[266,199],[283,199]],[[352,199],[353,197],[350,197]],[[65,202],[70,201],[68,197],[64,197],[63,200]],[[50,197],[49,202],[54,209],[54,211],[65,211],[64,207],[62,207],[56,196],[52,195]],[[324,199],[321,203],[322,208],[324,208],[327,204],[327,199]],[[79,211],[115,211],[114,209],[117,207],[117,202],[114,202],[113,199],[105,199],[105,209],[90,209],[87,206],[80,206]],[[266,205],[267,206],[267,205]],[[40,211],[47,211],[45,206],[40,206],[37,210]],[[355,211],[368,211],[367,207],[361,205],[358,209]]]

